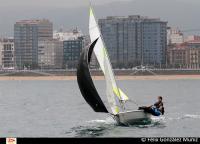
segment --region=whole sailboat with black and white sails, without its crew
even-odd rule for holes
[[[151,115],[143,110],[126,110],[125,103],[129,98],[116,83],[109,55],[92,7],[90,7],[89,15],[89,34],[92,43],[89,49],[82,50],[77,67],[77,81],[82,96],[95,112],[110,113],[118,124],[131,125],[135,122],[149,119]],[[89,66],[92,53],[95,54],[105,77],[109,107],[105,106],[91,77]]]

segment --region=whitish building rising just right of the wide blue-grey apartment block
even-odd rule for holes
[[[167,29],[167,44],[181,44],[184,42],[184,35],[178,28]]]

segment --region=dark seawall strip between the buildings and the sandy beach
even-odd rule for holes
[[[90,70],[91,75],[103,76],[101,70]],[[200,69],[114,69],[117,76],[148,76],[148,75],[200,75]],[[1,70],[1,76],[76,76],[76,69],[38,69],[38,70]]]

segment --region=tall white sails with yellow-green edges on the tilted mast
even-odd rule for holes
[[[105,75],[106,86],[107,86],[107,90],[106,90],[107,98],[111,106],[111,110],[113,114],[117,114],[120,112],[119,100],[127,101],[128,96],[120,88],[117,87],[114,73],[112,71],[112,66],[111,66],[109,56],[107,53],[107,49],[103,42],[103,38],[101,36],[99,26],[96,22],[96,19],[91,7],[90,7],[90,19],[89,19],[89,33],[90,33],[90,39],[92,42],[98,38],[98,41],[94,47],[94,53],[101,67],[101,70],[103,71]]]

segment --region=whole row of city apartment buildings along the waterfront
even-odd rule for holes
[[[139,15],[108,16],[99,19],[99,26],[113,68],[139,64],[156,68],[200,67],[200,36],[186,37],[179,29],[167,27],[165,21]],[[1,68],[75,68],[81,49],[90,43],[89,37],[77,28],[53,32],[53,23],[48,19],[20,20],[14,27],[14,39],[5,38],[0,43]]]

